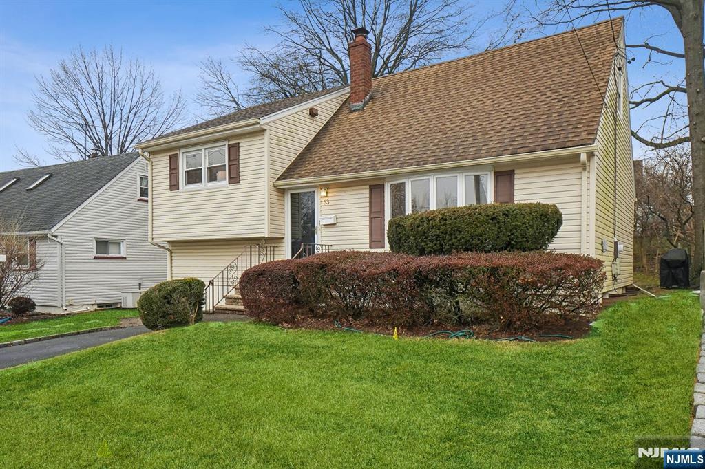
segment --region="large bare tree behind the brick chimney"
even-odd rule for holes
[[[202,64],[197,101],[214,115],[243,101],[258,104],[348,84],[348,44],[355,27],[369,28],[375,77],[427,65],[471,46],[491,18],[502,27],[487,30],[487,49],[516,42],[525,33],[511,0],[507,8],[470,20],[464,0],[298,0],[279,6],[282,22],[266,27],[280,42],[270,50],[248,45],[238,63],[250,86],[237,93],[222,61]],[[225,98],[225,99],[223,99]]]

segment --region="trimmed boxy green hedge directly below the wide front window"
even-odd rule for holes
[[[441,208],[389,220],[392,252],[543,251],[563,225],[553,204],[483,204]]]

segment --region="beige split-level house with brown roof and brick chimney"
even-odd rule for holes
[[[354,34],[350,87],[139,145],[169,277],[228,290],[262,259],[388,249],[398,215],[539,201],[563,213],[550,249],[605,261],[604,292],[632,284],[623,18],[377,78]]]

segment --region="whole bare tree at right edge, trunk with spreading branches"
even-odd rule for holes
[[[685,62],[685,89],[679,84],[653,83],[651,97],[632,97],[632,107],[646,106],[658,99],[669,99],[666,119],[660,135],[644,137],[632,132],[635,139],[653,149],[665,149],[689,143],[692,158],[692,192],[694,201],[693,265],[699,272],[705,266],[705,61],[704,61],[704,2],[703,0],[548,0],[541,18],[553,24],[571,24],[594,15],[629,13],[641,8],[664,8],[678,27],[683,39],[683,51],[667,51],[649,43],[630,44],[632,49],[646,49],[663,56],[682,58]],[[548,19],[548,20],[546,20]],[[651,58],[651,56],[649,57]],[[676,96],[685,92],[687,104],[687,132],[678,129]],[[638,95],[637,91],[637,95]],[[682,107],[682,106],[681,106]],[[684,113],[685,114],[685,113]],[[675,120],[674,120],[675,118]]]

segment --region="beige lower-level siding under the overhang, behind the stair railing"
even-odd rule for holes
[[[259,239],[219,239],[216,241],[171,242],[169,243],[171,277],[196,277],[208,282],[242,254],[245,251],[245,246],[258,244],[259,241]],[[265,244],[275,246],[275,258],[284,258],[282,239],[265,240]]]

